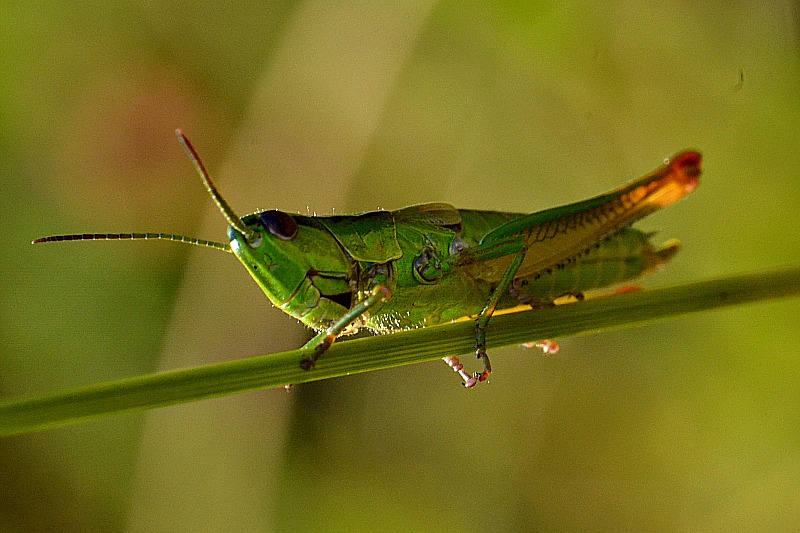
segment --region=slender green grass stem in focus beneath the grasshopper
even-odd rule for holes
[[[594,333],[642,322],[800,294],[800,265],[497,316],[489,348]],[[0,404],[0,435],[110,414],[430,361],[474,349],[471,321],[336,343],[312,371],[300,350],[80,387]],[[502,379],[502,361],[495,379]],[[442,368],[442,386],[457,386]],[[488,385],[491,386],[491,385]],[[480,390],[481,387],[478,387]],[[465,392],[480,394],[480,392]]]

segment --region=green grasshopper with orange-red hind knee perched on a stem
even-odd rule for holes
[[[445,357],[466,387],[491,374],[486,330],[495,311],[582,299],[666,264],[679,243],[654,246],[651,234],[629,226],[693,191],[701,174],[700,154],[684,151],[607,194],[533,214],[430,203],[355,216],[272,210],[240,218],[176,133],[229,224],[230,244],[164,233],[57,235],[34,244],[161,239],[233,253],[276,307],[318,332],[303,347],[306,370],[338,336],[360,328],[390,333],[472,318],[483,370],[467,374]]]

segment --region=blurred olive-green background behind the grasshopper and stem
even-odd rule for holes
[[[3,2],[0,396],[299,346],[231,256],[241,214],[534,211],[683,148],[647,286],[800,260],[798,2]],[[2,531],[791,530],[800,303],[0,441]]]

